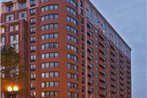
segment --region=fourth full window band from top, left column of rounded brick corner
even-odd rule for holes
[[[56,39],[59,38],[59,34],[58,33],[48,33],[48,34],[43,34],[41,35],[41,39],[42,40],[48,40],[48,39]]]

